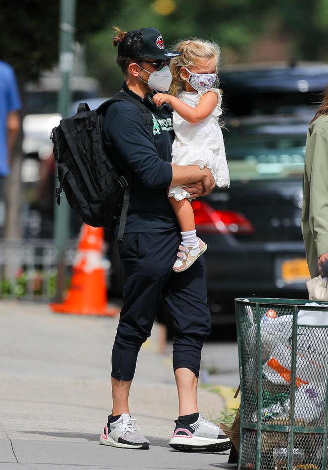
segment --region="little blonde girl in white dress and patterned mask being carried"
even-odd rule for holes
[[[229,186],[229,169],[219,124],[221,90],[214,88],[220,48],[214,42],[196,38],[179,42],[175,50],[182,54],[171,59],[171,95],[156,93],[153,98],[157,106],[169,103],[173,108],[172,163],[198,165],[201,169],[207,167],[217,186]],[[173,265],[173,270],[180,272],[191,266],[207,245],[196,236],[189,194],[182,186],[175,186],[169,188],[168,196],[182,235]]]

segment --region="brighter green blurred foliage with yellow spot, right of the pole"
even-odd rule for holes
[[[328,59],[328,0],[121,0],[120,5],[104,30],[87,41],[89,71],[106,94],[122,82],[115,66],[113,25],[125,30],[156,27],[166,46],[193,36],[213,39],[221,47],[223,64],[245,62],[252,44],[272,33],[287,45],[290,60]]]

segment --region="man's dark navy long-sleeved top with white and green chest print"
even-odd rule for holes
[[[126,85],[124,90],[128,90]],[[131,90],[127,93],[144,103]],[[124,172],[125,165],[129,165],[133,172],[126,233],[163,232],[177,226],[167,198],[172,180],[172,116],[166,107],[151,109],[151,116],[153,135],[138,107],[128,101],[113,103],[103,119],[105,148],[119,169]]]

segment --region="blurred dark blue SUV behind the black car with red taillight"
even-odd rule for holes
[[[328,64],[232,66],[220,72],[225,117],[309,116],[328,84]]]

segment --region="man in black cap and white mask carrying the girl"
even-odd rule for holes
[[[211,172],[171,161],[171,115],[156,108],[147,94],[167,91],[168,60],[178,55],[165,49],[160,31],[117,28],[117,64],[126,94],[149,107],[153,135],[141,111],[129,101],[112,104],[103,120],[105,146],[120,169],[133,172],[132,189],[120,257],[124,265],[123,307],[112,351],[113,410],[100,436],[104,445],[148,449],[149,441],[134,425],[128,397],[137,355],[149,338],[161,295],[173,316],[173,370],[179,417],[169,444],[179,450],[223,451],[230,448],[220,428],[205,421],[197,408],[201,350],[210,333],[203,256],[182,273],[172,270],[180,243],[179,227],[167,198],[170,185],[186,185],[191,198],[209,194]],[[147,111],[147,110],[146,110]],[[147,112],[148,114],[148,112]]]

